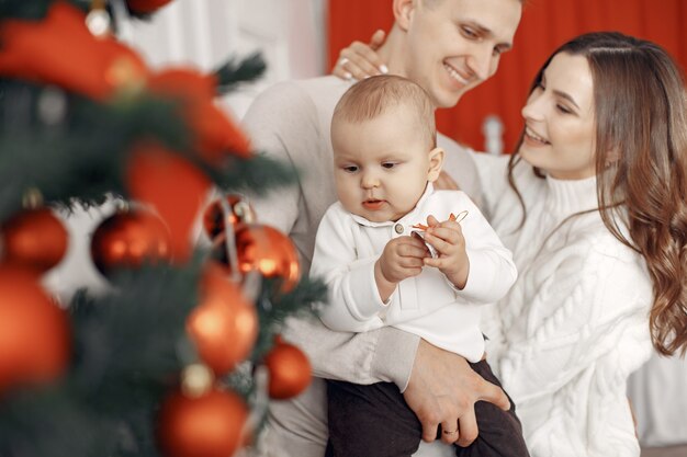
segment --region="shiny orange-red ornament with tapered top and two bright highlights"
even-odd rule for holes
[[[250,354],[258,336],[258,315],[240,286],[211,264],[203,276],[201,304],[189,316],[187,330],[200,358],[221,376]]]

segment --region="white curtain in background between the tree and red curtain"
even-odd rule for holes
[[[266,87],[324,72],[325,8],[325,0],[176,0],[149,22],[126,24],[121,36],[157,68],[210,71],[232,56],[260,50],[266,76],[225,100],[243,117]]]

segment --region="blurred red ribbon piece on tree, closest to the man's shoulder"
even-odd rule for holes
[[[227,155],[250,157],[248,137],[229,115],[215,104],[217,79],[187,68],[155,73],[150,92],[181,101],[181,115],[195,134],[195,149],[209,163],[221,163]]]

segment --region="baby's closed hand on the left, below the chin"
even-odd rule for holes
[[[384,247],[378,261],[380,272],[388,283],[399,283],[423,271],[423,259],[429,255],[425,243],[413,237],[394,238]]]

